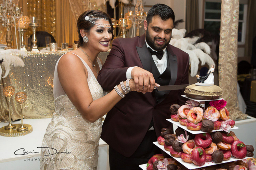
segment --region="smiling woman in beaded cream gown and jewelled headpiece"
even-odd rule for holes
[[[103,96],[97,82],[106,52],[113,39],[111,18],[102,11],[86,11],[77,20],[78,49],[56,63],[53,82],[55,113],[46,129],[41,149],[41,170],[97,169],[98,145],[104,116],[129,91],[127,80]]]

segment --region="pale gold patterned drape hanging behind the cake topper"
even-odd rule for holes
[[[220,44],[219,44],[219,86],[222,97],[227,101],[231,119],[245,119],[239,111],[237,99],[237,35],[239,0],[222,0]]]

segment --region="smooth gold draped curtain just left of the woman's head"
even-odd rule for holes
[[[76,21],[68,0],[56,0],[56,42],[61,45],[67,42],[71,45],[78,39]]]

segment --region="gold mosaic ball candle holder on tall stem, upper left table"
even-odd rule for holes
[[[18,31],[20,32],[20,50],[27,51],[26,49],[26,41],[25,41],[25,33],[28,30],[30,21],[28,16],[21,16],[18,20]]]

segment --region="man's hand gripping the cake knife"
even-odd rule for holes
[[[131,72],[132,79],[134,80],[137,91],[146,93],[152,92],[155,87],[155,79],[153,74],[140,67],[134,67]],[[143,89],[143,90],[142,90]]]

